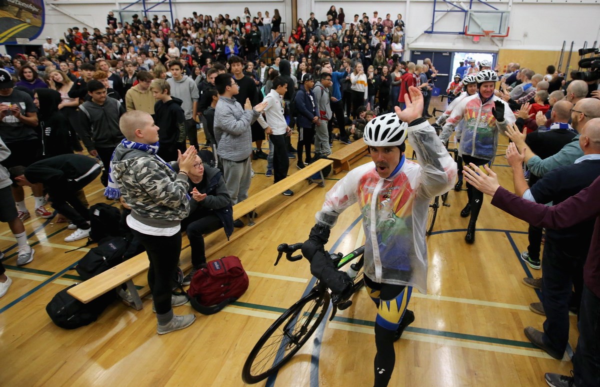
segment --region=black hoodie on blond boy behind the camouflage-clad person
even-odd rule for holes
[[[160,128],[158,131],[160,147],[185,143],[185,113],[181,107],[182,103],[181,99],[172,97],[170,101],[157,101],[154,104],[154,123]]]

